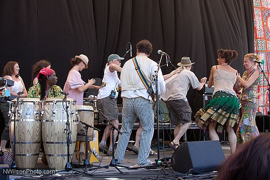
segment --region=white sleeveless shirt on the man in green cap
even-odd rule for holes
[[[110,95],[111,90],[115,91],[115,98],[118,96],[120,79],[117,76],[117,71],[110,72],[108,65],[104,71],[101,88],[99,89],[98,99],[106,98]]]

